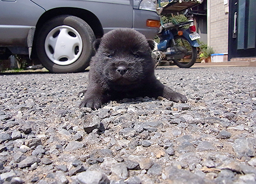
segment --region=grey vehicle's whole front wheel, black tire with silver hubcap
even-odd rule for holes
[[[95,35],[86,21],[61,15],[47,21],[37,35],[41,64],[52,73],[84,71],[90,65]]]

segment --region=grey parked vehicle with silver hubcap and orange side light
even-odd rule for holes
[[[0,0],[0,59],[22,54],[50,72],[80,72],[95,38],[133,28],[152,39],[159,26],[154,0]]]

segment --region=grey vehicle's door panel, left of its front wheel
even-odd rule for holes
[[[0,46],[27,46],[29,30],[45,10],[29,0],[0,0]]]

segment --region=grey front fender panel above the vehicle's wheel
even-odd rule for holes
[[[99,19],[104,33],[116,28],[133,27],[133,0],[33,0],[48,10],[73,7],[88,10]]]

